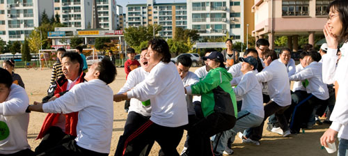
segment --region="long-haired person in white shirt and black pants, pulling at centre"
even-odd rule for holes
[[[130,98],[142,102],[150,99],[152,107],[150,120],[125,139],[125,146],[121,147],[122,155],[140,155],[143,145],[157,141],[164,155],[178,156],[176,148],[184,133],[182,126],[189,123],[184,85],[171,62],[165,40],[150,40],[145,56],[150,74],[131,91],[113,95],[116,102]]]

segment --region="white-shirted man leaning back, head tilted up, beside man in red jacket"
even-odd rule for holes
[[[88,69],[88,82],[76,84],[54,101],[29,105],[30,111],[63,113],[79,111],[77,137],[39,155],[109,155],[113,130],[113,91],[107,85],[116,75],[110,59],[102,59]]]

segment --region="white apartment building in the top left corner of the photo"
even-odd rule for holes
[[[39,26],[41,14],[53,15],[53,1],[0,0],[0,38],[3,41],[24,41]]]

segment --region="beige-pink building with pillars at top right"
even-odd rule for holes
[[[254,0],[255,14],[253,36],[268,36],[271,48],[276,36],[287,36],[287,47],[297,51],[299,36],[308,36],[315,45],[315,35],[322,35],[326,23],[329,0]]]

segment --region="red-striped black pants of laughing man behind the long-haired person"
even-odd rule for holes
[[[116,156],[120,156],[122,155],[123,152],[123,148],[125,146],[125,141],[126,139],[133,134],[136,130],[139,129],[139,127],[141,127],[141,125],[143,125],[144,123],[146,123],[149,120],[150,116],[143,116],[139,113],[136,113],[135,111],[130,111],[128,113],[127,116],[127,120],[125,123],[125,131],[123,132],[123,134],[120,136],[120,139],[118,140],[118,144],[117,144],[117,148],[116,148],[116,152],[115,155]],[[143,150],[141,150],[140,155],[148,155],[150,153],[150,150],[152,148],[154,141],[150,141],[148,144],[143,144],[143,147],[139,147],[139,148],[143,148]]]

